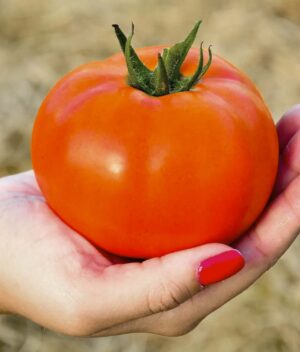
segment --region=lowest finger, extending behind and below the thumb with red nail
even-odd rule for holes
[[[178,307],[120,324],[111,334],[149,331],[176,336],[190,331],[208,314],[249,287],[270,268],[295,240],[300,230],[300,179],[270,205],[259,223],[238,243],[245,267],[225,281],[206,287]],[[99,336],[108,332],[101,331]]]

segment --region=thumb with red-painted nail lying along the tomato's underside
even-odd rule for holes
[[[110,324],[170,310],[204,285],[226,279],[244,266],[240,252],[212,243],[153,258],[142,263],[106,268],[99,284],[105,297],[97,315]],[[98,292],[99,292],[98,291]]]

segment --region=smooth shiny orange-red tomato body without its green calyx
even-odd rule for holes
[[[161,51],[137,52],[153,68]],[[182,73],[197,63],[192,49]],[[259,92],[216,55],[188,92],[151,97],[126,74],[121,54],[89,63],[44,100],[32,162],[49,206],[127,257],[232,242],[262,212],[277,172],[276,129]]]

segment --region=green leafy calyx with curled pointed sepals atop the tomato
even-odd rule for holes
[[[209,57],[207,63],[204,65],[203,42],[201,42],[200,58],[195,73],[190,77],[185,77],[180,72],[180,68],[195,41],[200,24],[201,21],[195,24],[184,41],[170,48],[165,48],[162,55],[159,53],[158,63],[153,71],[143,64],[131,45],[134,35],[134,25],[132,24],[131,33],[127,38],[119,25],[113,24],[125,56],[128,69],[128,84],[156,97],[192,89],[207,72],[212,61],[211,46],[209,46]]]

